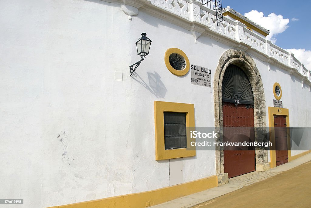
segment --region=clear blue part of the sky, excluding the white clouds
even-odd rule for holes
[[[307,1],[246,1],[246,0],[222,0],[222,6],[230,6],[230,8],[245,14],[252,10],[262,11],[264,16],[270,13],[282,15],[284,19],[289,19],[287,24],[289,27],[284,32],[277,34],[276,45],[284,49],[289,48],[305,48],[311,50],[310,39],[310,15],[309,8],[311,7],[311,0]],[[292,18],[299,19],[291,21]],[[268,29],[268,28],[267,28]]]

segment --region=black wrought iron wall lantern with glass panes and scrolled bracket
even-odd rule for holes
[[[131,75],[134,73],[134,71],[137,69],[140,63],[142,63],[145,57],[149,54],[151,42],[152,41],[146,37],[146,33],[142,33],[142,37],[137,40],[136,42],[137,55],[142,57],[142,60],[137,61],[135,64],[129,66]]]

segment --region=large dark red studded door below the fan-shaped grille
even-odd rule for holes
[[[223,126],[224,142],[254,142],[253,106],[223,102]],[[224,147],[224,168],[229,178],[255,171],[254,147]]]

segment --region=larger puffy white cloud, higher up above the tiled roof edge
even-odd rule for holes
[[[270,30],[270,34],[266,38],[267,40],[271,40],[272,43],[276,42],[277,34],[284,32],[289,27],[287,24],[290,22],[289,19],[283,19],[282,15],[271,13],[268,16],[263,16],[263,12],[256,10],[245,13],[244,16]]]

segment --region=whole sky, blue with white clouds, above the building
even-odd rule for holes
[[[272,42],[294,53],[295,57],[311,70],[309,17],[311,0],[222,0],[221,3],[222,7],[230,6],[264,28],[274,31]],[[263,15],[259,12],[262,12]]]

